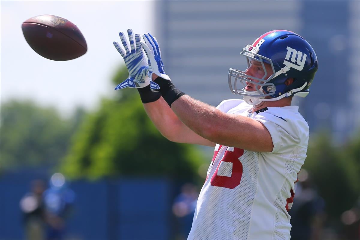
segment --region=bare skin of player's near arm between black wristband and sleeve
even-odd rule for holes
[[[250,151],[273,150],[269,131],[251,118],[222,113],[188,95],[174,101],[171,109],[186,126],[210,142]]]

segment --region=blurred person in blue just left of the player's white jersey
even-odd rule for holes
[[[174,200],[172,212],[177,220],[177,239],[185,239],[188,236],[198,196],[199,192],[196,186],[187,183],[181,187],[181,193]]]

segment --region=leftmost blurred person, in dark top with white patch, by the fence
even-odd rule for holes
[[[25,237],[28,240],[45,239],[45,205],[43,193],[45,184],[42,180],[31,183],[31,191],[20,200],[20,209],[23,213]]]

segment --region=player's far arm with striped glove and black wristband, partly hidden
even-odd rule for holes
[[[215,146],[214,143],[195,134],[190,128],[186,127],[185,124],[176,117],[174,112],[172,112],[160,94],[153,92],[153,90],[158,90],[159,86],[153,81],[150,81],[153,70],[150,60],[147,59],[140,46],[140,35],[135,34],[134,36],[131,29],[128,29],[127,33],[128,38],[123,32],[119,33],[121,44],[113,42],[116,50],[124,59],[126,68],[129,71],[129,78],[117,85],[115,89],[118,90],[125,87],[137,88],[148,116],[167,139],[174,142]],[[154,64],[157,65],[157,63]],[[163,69],[160,71],[161,73],[158,68],[156,68],[154,72],[170,80],[163,72]]]

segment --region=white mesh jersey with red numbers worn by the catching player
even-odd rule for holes
[[[188,239],[290,239],[288,209],[306,158],[308,124],[297,106],[252,114],[243,100],[224,100],[217,109],[264,124],[274,149],[260,153],[216,144]]]

